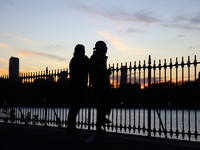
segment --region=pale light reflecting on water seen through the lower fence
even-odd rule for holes
[[[15,107],[15,115],[16,118],[18,118],[18,121],[15,121],[15,123],[20,123],[20,118],[22,115],[24,115],[24,118],[29,115],[31,119],[33,119],[35,116],[38,117],[38,120],[45,120],[45,108],[18,108]],[[21,111],[20,111],[21,110]],[[9,113],[11,111],[11,108],[7,110],[7,114],[3,113],[3,109],[0,108],[0,117],[9,117]],[[56,115],[60,118],[62,123],[62,127],[66,127],[67,122],[67,115],[68,115],[69,109],[68,108],[46,108],[46,120],[49,122],[47,123],[48,126],[58,126],[56,121]],[[29,113],[29,114],[28,114]],[[88,113],[89,109],[82,108],[77,116],[77,122],[82,123],[88,123]],[[96,114],[97,109],[91,108],[90,109],[90,123],[96,123]],[[161,120],[159,119],[159,116]],[[190,130],[193,134],[195,131],[200,131],[200,110],[151,110],[151,128],[159,130],[162,129],[161,123],[163,123],[164,128],[167,129],[167,131],[172,130],[173,132],[176,132],[178,130],[179,132],[184,131],[185,133],[188,133]],[[126,130],[124,128],[120,129],[120,126],[124,127],[133,127],[135,125],[136,128],[147,128],[148,126],[148,110],[147,109],[112,109],[109,116],[107,116],[109,120],[112,121],[111,125],[118,126],[118,127],[106,127],[108,132],[118,132],[118,133],[126,133],[126,134],[139,134],[139,135],[147,135],[147,131],[143,133],[143,130],[135,130],[127,128]],[[51,121],[54,122],[51,122]],[[1,119],[0,122],[3,122],[4,120]],[[9,121],[8,121],[9,122]],[[24,122],[21,122],[24,124]],[[34,120],[30,121],[29,124],[37,124],[37,125],[44,125],[44,122],[35,122]],[[88,129],[87,125],[80,125],[78,128],[82,129]],[[92,130],[95,130],[95,126],[91,127]],[[164,137],[164,134],[157,132],[155,135],[152,133],[152,136],[156,137]],[[173,133],[172,137],[170,134],[167,134],[168,138],[177,139],[177,136],[175,133]],[[179,134],[178,139],[183,139],[182,134]],[[188,140],[188,135],[185,135],[185,140]],[[192,141],[200,141],[200,137],[196,140],[194,135],[191,135]]]

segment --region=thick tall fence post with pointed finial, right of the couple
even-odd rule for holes
[[[148,138],[151,137],[151,56],[148,60]]]

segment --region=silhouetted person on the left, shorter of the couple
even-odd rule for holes
[[[72,103],[68,114],[67,129],[76,129],[76,116],[81,108],[83,95],[88,83],[89,58],[85,56],[85,47],[83,45],[76,45],[69,69]]]

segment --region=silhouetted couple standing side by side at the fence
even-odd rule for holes
[[[89,59],[85,56],[85,47],[80,44],[76,45],[74,57],[70,61],[72,104],[68,115],[67,129],[76,129],[76,116],[81,108],[83,95],[87,88],[88,73],[90,73],[93,91],[98,97],[97,132],[102,131],[102,126],[105,123],[110,123],[105,118],[111,110],[109,103],[111,93],[109,75],[111,71],[107,69],[107,49],[105,42],[96,42],[93,55]]]

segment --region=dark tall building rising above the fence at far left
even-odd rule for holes
[[[19,58],[10,57],[9,78],[16,78],[18,76],[19,76]]]

